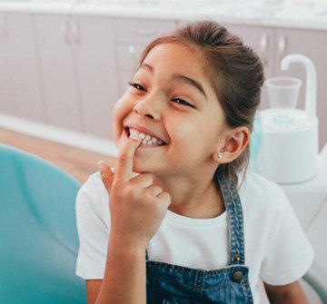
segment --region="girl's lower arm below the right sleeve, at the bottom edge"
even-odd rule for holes
[[[264,288],[272,304],[309,304],[298,281],[281,286],[264,283]]]

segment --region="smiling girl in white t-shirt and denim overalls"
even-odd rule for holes
[[[261,279],[272,303],[307,303],[312,247],[281,189],[244,174],[262,84],[213,22],[148,45],[114,108],[115,171],[77,196],[88,303],[260,303]]]

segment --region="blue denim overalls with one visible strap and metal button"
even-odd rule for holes
[[[214,177],[228,215],[230,264],[219,270],[197,270],[148,260],[147,304],[253,303],[244,266],[243,211],[235,185]]]

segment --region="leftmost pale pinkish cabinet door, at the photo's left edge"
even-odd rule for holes
[[[7,76],[15,115],[45,121],[41,80],[36,60],[34,25],[27,14],[6,14],[4,44]],[[11,108],[11,107],[15,107]]]

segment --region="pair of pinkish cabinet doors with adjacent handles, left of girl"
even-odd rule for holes
[[[110,18],[35,15],[47,123],[111,138],[117,100]]]

